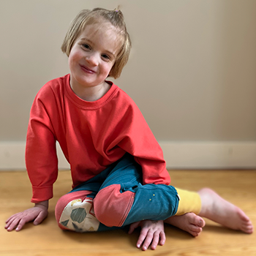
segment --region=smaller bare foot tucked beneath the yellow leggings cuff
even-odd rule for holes
[[[187,231],[192,236],[199,236],[202,231],[202,227],[206,224],[205,221],[196,214],[189,212],[180,216],[172,216],[165,219],[165,222]]]

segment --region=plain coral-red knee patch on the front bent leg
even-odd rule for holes
[[[94,198],[97,219],[108,227],[121,227],[134,202],[135,193],[121,192],[120,184],[101,189]]]

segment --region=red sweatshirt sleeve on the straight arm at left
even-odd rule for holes
[[[47,104],[47,99],[40,91],[34,99],[26,138],[26,168],[32,184],[32,203],[53,197],[53,183],[58,176],[56,138],[49,113],[54,108]]]

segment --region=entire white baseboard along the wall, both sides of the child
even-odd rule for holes
[[[255,142],[160,141],[170,169],[256,169]],[[69,164],[57,146],[59,168]],[[0,142],[0,170],[24,170],[25,142]]]

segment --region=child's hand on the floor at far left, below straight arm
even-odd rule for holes
[[[47,202],[47,203],[45,203]],[[40,224],[48,216],[48,201],[36,204],[33,208],[29,208],[18,214],[12,215],[7,219],[5,228],[12,231],[16,227],[16,231],[20,231],[26,222],[34,220],[34,225]]]

